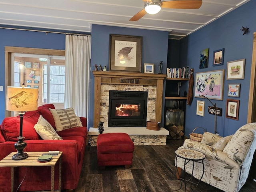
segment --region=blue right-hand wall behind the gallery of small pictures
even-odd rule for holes
[[[180,65],[187,64],[194,68],[195,73],[225,69],[225,82],[223,100],[211,100],[222,108],[222,116],[218,116],[217,130],[221,136],[234,134],[240,126],[247,123],[248,97],[250,86],[250,70],[252,62],[253,32],[256,32],[256,0],[244,4],[236,10],[222,16],[204,28],[180,40]],[[249,33],[242,35],[240,28],[248,27]],[[208,68],[199,69],[200,51],[209,48]],[[212,66],[213,51],[224,48],[224,65]],[[226,80],[227,62],[246,59],[244,80]],[[195,78],[194,73],[194,78]],[[228,84],[241,83],[240,98],[228,97]],[[193,90],[194,92],[194,90]],[[233,120],[226,118],[226,100],[240,100],[239,118]],[[189,136],[194,128],[202,126],[207,131],[214,133],[215,116],[208,114],[207,107],[212,106],[205,100],[204,117],[196,115],[196,103],[201,98],[194,98],[192,105],[186,107],[185,135]]]

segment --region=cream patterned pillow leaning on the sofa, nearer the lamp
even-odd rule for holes
[[[63,140],[56,133],[51,124],[42,117],[42,115],[40,115],[38,122],[34,126],[34,129],[44,140]]]

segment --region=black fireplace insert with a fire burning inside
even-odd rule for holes
[[[148,92],[109,91],[108,127],[146,127]]]

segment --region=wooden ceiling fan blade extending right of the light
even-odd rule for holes
[[[198,9],[202,5],[202,0],[173,0],[162,1],[162,8],[172,9]]]

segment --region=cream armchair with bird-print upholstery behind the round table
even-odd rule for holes
[[[203,182],[225,192],[238,192],[245,184],[256,149],[256,123],[240,127],[234,135],[221,137],[204,132],[201,142],[186,139],[180,148],[194,149],[205,154]],[[178,158],[178,170],[184,167],[184,159]],[[193,163],[186,165],[192,173]],[[202,164],[195,163],[194,177],[202,176]]]

